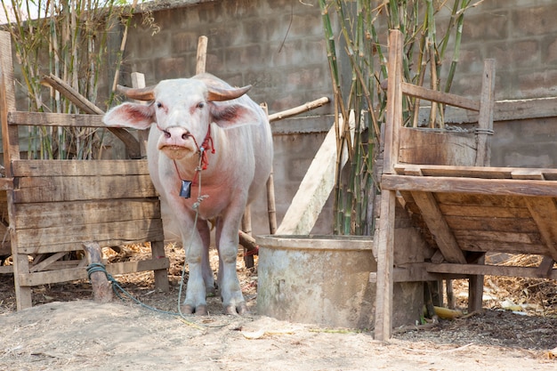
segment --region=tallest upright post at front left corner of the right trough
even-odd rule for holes
[[[399,155],[399,130],[402,121],[402,43],[399,30],[389,35],[389,79],[387,116],[383,137],[383,173],[394,173]],[[396,192],[382,190],[379,231],[377,233],[377,284],[375,295],[375,340],[392,335],[392,270],[394,264],[394,222]]]

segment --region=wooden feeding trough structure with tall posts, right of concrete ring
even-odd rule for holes
[[[375,241],[378,340],[391,337],[393,282],[470,278],[469,311],[474,311],[481,308],[483,275],[557,279],[557,169],[489,166],[494,61],[486,60],[480,100],[473,101],[405,83],[400,31],[391,31],[389,43],[381,216]],[[402,127],[403,94],[478,111],[478,130],[432,133]],[[435,156],[426,156],[425,149]],[[433,248],[426,262],[394,266],[397,203],[408,210]],[[539,254],[544,259],[537,268],[484,264],[484,255],[491,252]]]

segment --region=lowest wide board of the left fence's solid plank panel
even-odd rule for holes
[[[164,240],[160,219],[18,230],[17,235],[20,254],[71,251],[79,248],[84,242],[93,240],[101,246]]]

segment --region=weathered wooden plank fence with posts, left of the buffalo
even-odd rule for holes
[[[30,307],[31,287],[87,278],[86,242],[122,246],[150,242],[152,257],[107,264],[110,274],[154,270],[155,284],[168,289],[164,231],[157,191],[147,160],[27,160],[20,158],[20,125],[103,127],[101,115],[18,112],[10,34],[0,32],[0,113],[4,144],[7,222],[11,237],[18,310]],[[99,113],[93,112],[91,113]],[[139,142],[117,129],[128,154],[140,157]],[[32,259],[29,259],[29,256]]]

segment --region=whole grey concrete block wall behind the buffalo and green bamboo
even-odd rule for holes
[[[151,10],[160,32],[130,31],[124,82],[132,71],[147,84],[195,72],[198,36],[208,36],[206,69],[232,85],[254,85],[249,93],[265,101],[270,113],[320,96],[331,96],[327,55],[317,0],[185,0],[157,2]],[[557,2],[489,0],[466,12],[464,36],[452,93],[477,98],[483,60],[495,58],[496,99],[557,95]],[[452,55],[448,52],[448,66]],[[278,222],[332,124],[332,107],[273,124]],[[317,115],[317,116],[316,116]],[[537,129],[532,129],[539,125]],[[532,135],[532,133],[539,133]],[[557,121],[497,123],[492,165],[557,165],[553,150]],[[544,145],[536,143],[543,141]],[[254,232],[266,233],[265,199],[254,206]],[[332,203],[316,233],[331,230]]]

